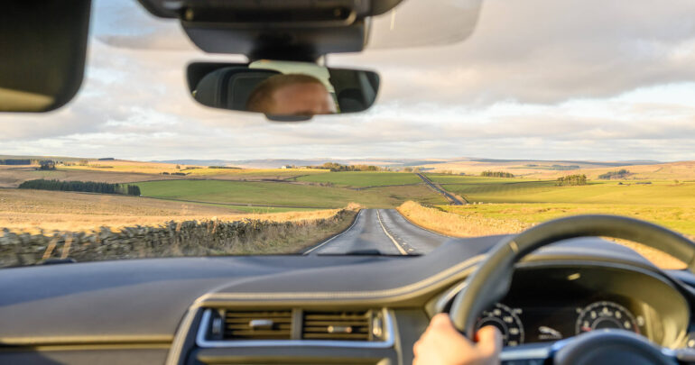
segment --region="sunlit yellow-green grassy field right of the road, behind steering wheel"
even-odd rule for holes
[[[409,203],[399,211],[416,224],[449,235],[518,233],[563,216],[617,214],[661,224],[695,239],[695,182],[691,181],[594,180],[586,186],[556,187],[553,180],[531,178],[428,176],[477,204],[426,208]],[[662,267],[682,266],[643,245],[621,243]]]

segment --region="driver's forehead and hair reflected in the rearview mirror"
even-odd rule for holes
[[[273,115],[335,114],[329,90],[318,78],[303,74],[267,78],[248,98],[246,110]]]

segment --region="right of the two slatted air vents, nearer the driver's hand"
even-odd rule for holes
[[[304,340],[371,341],[371,311],[304,312]],[[381,325],[381,321],[378,321]],[[381,328],[378,329],[379,333]]]

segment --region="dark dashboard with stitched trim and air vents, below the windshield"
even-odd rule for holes
[[[0,363],[409,364],[499,237],[422,257],[267,256],[123,260],[4,269]],[[691,341],[688,272],[625,247],[562,242],[517,265],[477,325],[505,345],[623,328],[664,347]],[[690,346],[690,342],[692,346]]]

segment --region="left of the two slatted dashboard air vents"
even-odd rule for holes
[[[224,340],[290,340],[292,311],[225,312]]]

